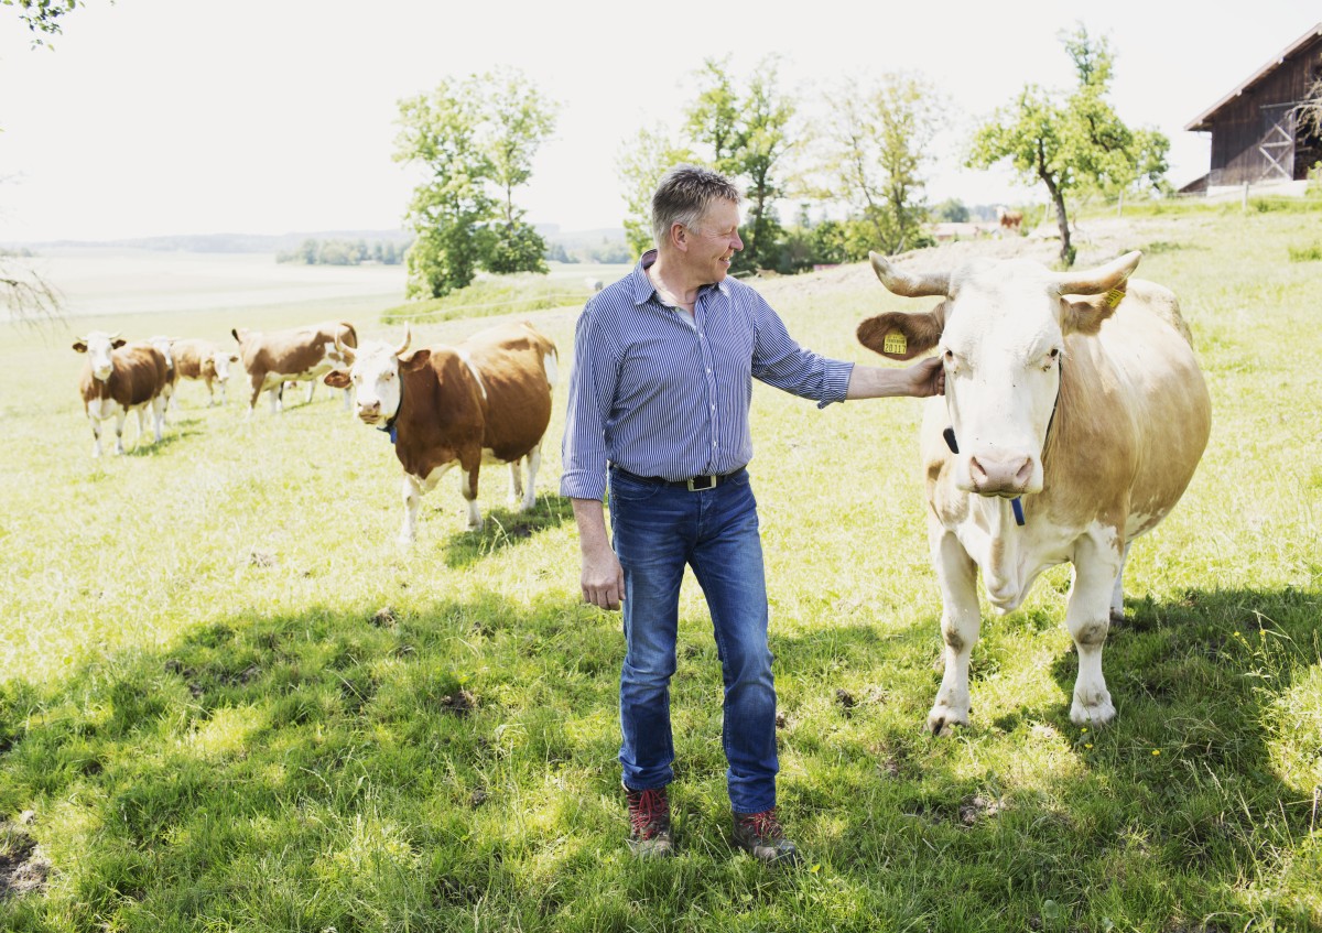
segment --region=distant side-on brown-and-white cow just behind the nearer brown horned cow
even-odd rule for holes
[[[231,333],[239,342],[243,369],[247,370],[253,386],[253,398],[249,400],[250,418],[263,391],[270,392],[271,414],[279,414],[284,408],[287,381],[307,382],[308,402],[311,402],[317,377],[345,363],[342,352],[336,346],[353,349],[358,345],[357,332],[345,321],[328,321],[271,333],[235,328]],[[348,411],[348,392],[344,396],[344,406]]]

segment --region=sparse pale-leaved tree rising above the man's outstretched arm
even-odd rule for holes
[[[871,89],[849,79],[830,100],[830,188],[843,192],[871,225],[882,252],[902,252],[923,238],[923,169],[944,107],[931,85],[899,73],[883,75]]]

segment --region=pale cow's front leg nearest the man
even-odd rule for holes
[[[969,724],[969,655],[982,628],[978,611],[978,568],[952,531],[933,531],[932,566],[941,587],[941,641],[945,671],[936,703],[927,716],[932,735]]]

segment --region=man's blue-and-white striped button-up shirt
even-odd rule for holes
[[[607,463],[668,480],[739,469],[752,459],[754,378],[821,406],[845,399],[854,365],[800,348],[754,288],[703,285],[689,322],[657,296],[653,262],[656,250],[579,315],[563,496],[603,498]]]

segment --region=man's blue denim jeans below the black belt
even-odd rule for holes
[[[611,529],[624,568],[620,764],[632,790],[674,780],[670,677],[685,564],[707,597],[724,679],[726,785],[735,813],[776,805],[776,687],[767,579],[747,473],[689,492],[611,470]]]

